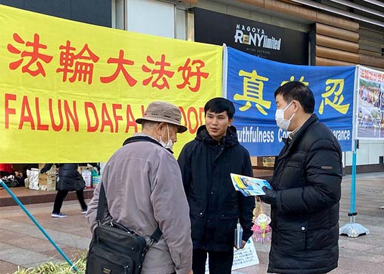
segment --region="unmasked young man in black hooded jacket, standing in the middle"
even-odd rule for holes
[[[230,274],[235,227],[243,227],[242,245],[252,235],[254,197],[244,197],[232,185],[230,173],[252,176],[248,151],[239,144],[232,127],[235,107],[224,98],[204,106],[205,123],[195,140],[182,149],[178,163],[187,195],[193,241],[192,269],[204,274]]]

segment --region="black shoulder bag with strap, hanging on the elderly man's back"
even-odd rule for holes
[[[86,274],[139,274],[149,247],[158,242],[163,235],[157,228],[150,236],[149,245],[143,236],[134,233],[123,225],[111,221],[101,225],[104,219],[106,195],[101,182],[99,203],[97,205],[98,222],[91,245],[89,246]]]

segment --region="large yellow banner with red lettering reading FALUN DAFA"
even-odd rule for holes
[[[106,162],[162,100],[188,131],[221,96],[222,47],[0,5],[0,162]]]

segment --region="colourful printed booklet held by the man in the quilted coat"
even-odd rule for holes
[[[272,189],[272,186],[265,179],[248,177],[235,173],[230,173],[232,184],[235,190],[243,193],[244,196],[259,196],[265,195],[263,186]]]

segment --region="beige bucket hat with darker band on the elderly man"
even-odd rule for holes
[[[181,112],[176,105],[163,101],[155,101],[148,105],[145,110],[143,118],[136,119],[136,123],[143,123],[143,121],[165,122],[173,125],[178,125],[178,133],[186,132],[187,127],[180,124]]]

